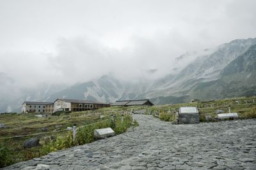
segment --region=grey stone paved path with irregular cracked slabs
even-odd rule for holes
[[[256,119],[172,125],[151,115],[140,126],[4,169],[256,169]]]

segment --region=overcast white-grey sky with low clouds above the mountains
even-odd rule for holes
[[[156,78],[172,73],[183,53],[255,38],[255,6],[254,0],[1,0],[0,72],[24,86],[72,85],[109,72],[138,79],[157,70]]]

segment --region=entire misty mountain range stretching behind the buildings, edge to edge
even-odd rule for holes
[[[41,85],[16,90],[13,79],[0,73],[0,113],[20,110],[23,101],[54,101],[57,98],[87,99],[111,103],[119,99],[151,99],[154,104],[256,95],[256,38],[236,39],[201,52],[186,52],[170,63],[170,73],[157,80],[124,81],[113,74],[71,87]],[[148,76],[157,69],[148,71]],[[7,88],[8,89],[8,88]],[[11,95],[8,96],[8,94]]]

